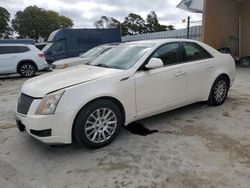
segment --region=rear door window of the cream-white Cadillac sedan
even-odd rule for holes
[[[184,42],[183,61],[195,61],[211,58],[211,55],[196,43]]]

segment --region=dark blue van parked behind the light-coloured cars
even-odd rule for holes
[[[79,56],[87,50],[107,43],[121,42],[119,29],[59,29],[52,32],[43,48],[48,63]]]

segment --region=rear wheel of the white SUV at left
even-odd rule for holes
[[[18,66],[17,72],[25,78],[30,78],[36,74],[36,66],[33,63],[24,62]]]

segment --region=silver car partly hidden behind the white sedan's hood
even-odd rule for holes
[[[99,57],[100,55],[104,54],[105,52],[111,50],[112,48],[116,47],[116,44],[105,44],[101,46],[97,46],[95,48],[90,49],[89,51],[80,54],[79,57],[72,57],[67,59],[62,59],[53,63],[53,69],[64,69],[67,67],[72,67],[81,64],[87,64]]]

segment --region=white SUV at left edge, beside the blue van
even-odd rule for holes
[[[19,73],[32,77],[48,67],[44,53],[34,45],[0,44],[0,74]]]

